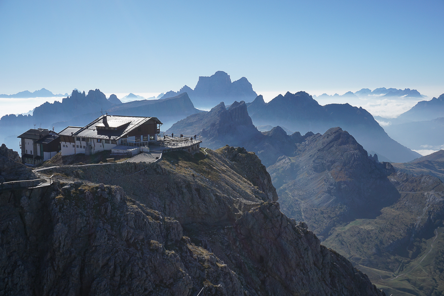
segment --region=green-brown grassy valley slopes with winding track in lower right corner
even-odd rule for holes
[[[430,222],[430,215],[442,216],[442,183],[414,192],[413,181],[376,219],[336,227],[324,245],[353,261],[387,295],[442,295],[444,225],[442,217],[435,218],[436,228]]]

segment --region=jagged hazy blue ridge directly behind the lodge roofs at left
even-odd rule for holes
[[[84,126],[102,113],[134,116],[154,116],[168,128],[186,116],[200,112],[193,107],[188,95],[181,94],[163,100],[139,100],[121,103],[115,95],[107,99],[99,89],[85,92],[73,91],[62,102],[44,103],[37,107],[33,115],[9,114],[0,118],[0,141],[18,150],[17,136],[30,128],[42,127],[56,132],[69,125]]]

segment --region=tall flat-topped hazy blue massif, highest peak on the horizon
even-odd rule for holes
[[[210,77],[200,76],[194,89],[188,86],[182,87],[178,92],[169,91],[162,99],[174,97],[181,93],[188,93],[194,106],[198,109],[211,109],[221,102],[230,105],[234,101],[251,102],[257,97],[253,86],[242,77],[231,82],[230,76],[225,72],[218,71]]]

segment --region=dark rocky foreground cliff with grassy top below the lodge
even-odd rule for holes
[[[10,201],[1,194],[0,290],[385,295],[321,246],[305,224],[280,212],[253,153],[224,147],[198,154],[167,153],[154,164],[61,167],[59,178],[96,176],[109,185],[54,183],[47,191],[15,191]],[[114,185],[119,182],[125,188]]]

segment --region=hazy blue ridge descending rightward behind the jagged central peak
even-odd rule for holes
[[[248,113],[255,125],[282,125],[301,133],[324,133],[333,126],[340,126],[364,148],[392,161],[407,162],[420,157],[419,153],[391,139],[365,109],[349,104],[320,106],[305,92],[287,92],[285,96],[279,95],[268,103],[258,96],[248,105]]]

